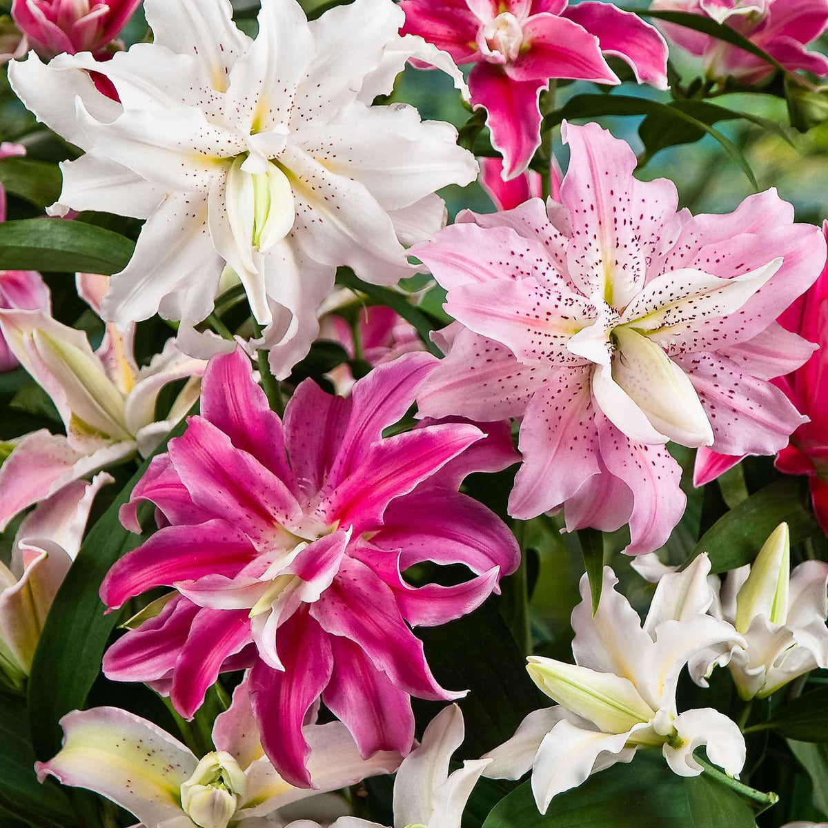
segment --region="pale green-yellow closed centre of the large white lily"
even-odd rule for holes
[[[251,248],[264,252],[282,241],[296,221],[296,208],[291,182],[276,164],[267,161],[267,171],[250,173],[242,169],[245,160],[238,156],[227,176],[227,216],[238,252],[255,272]]]

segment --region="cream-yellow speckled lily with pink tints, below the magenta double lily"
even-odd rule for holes
[[[340,722],[306,724],[315,789],[293,787],[262,753],[247,677],[215,720],[215,750],[201,758],[156,724],[116,707],[75,710],[60,724],[63,748],[36,764],[41,782],[51,774],[97,792],[130,811],[142,828],[280,826],[297,808],[315,812],[308,797],[393,773],[401,759],[377,753],[364,760]]]

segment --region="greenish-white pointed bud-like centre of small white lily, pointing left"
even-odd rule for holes
[[[626,733],[656,715],[628,679],[553,658],[530,656],[528,662],[529,676],[546,696],[604,733]]]

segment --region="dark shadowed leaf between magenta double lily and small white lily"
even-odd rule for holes
[[[437,681],[448,690],[468,690],[463,710],[464,757],[478,758],[510,739],[517,725],[537,710],[538,694],[526,662],[503,617],[490,602],[441,627],[417,628]],[[434,705],[429,705],[431,720]],[[455,758],[461,758],[460,754]]]

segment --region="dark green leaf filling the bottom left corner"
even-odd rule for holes
[[[26,704],[0,696],[0,808],[38,828],[77,825],[69,801],[53,782],[41,785],[35,775]]]

